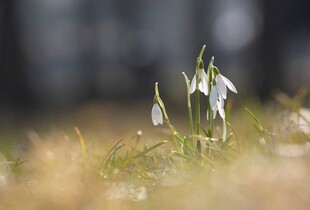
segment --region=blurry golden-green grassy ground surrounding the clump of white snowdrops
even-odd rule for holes
[[[245,104],[266,139],[239,104],[230,119],[234,150],[204,163],[171,155],[167,130],[151,124],[151,105],[93,104],[33,120],[19,139],[2,135],[0,208],[309,209],[310,125],[278,103]],[[176,111],[171,120],[187,129],[184,117]]]

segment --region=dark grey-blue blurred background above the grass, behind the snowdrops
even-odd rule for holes
[[[2,0],[1,110],[183,97],[203,44],[239,96],[309,88],[310,2]]]

